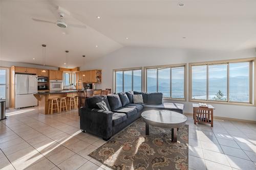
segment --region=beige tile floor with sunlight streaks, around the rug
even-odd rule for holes
[[[110,169],[88,156],[105,141],[79,129],[77,110],[39,114],[7,110],[0,122],[0,169]],[[216,120],[214,128],[188,116],[189,169],[256,169],[256,124]]]

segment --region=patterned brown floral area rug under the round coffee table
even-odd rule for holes
[[[145,123],[138,119],[89,156],[118,170],[188,169],[188,125],[179,128],[177,143],[172,131],[150,126],[145,136]]]

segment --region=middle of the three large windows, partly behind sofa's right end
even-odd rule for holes
[[[146,67],[146,92],[162,92],[164,98],[185,99],[185,64]]]

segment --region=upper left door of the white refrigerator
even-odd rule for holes
[[[28,94],[28,75],[15,75],[16,94]]]

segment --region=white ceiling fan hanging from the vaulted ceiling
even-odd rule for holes
[[[64,20],[64,15],[65,14],[64,13],[70,15],[70,12],[61,8],[61,7],[59,7],[59,6],[58,6],[58,11],[60,11],[60,12],[58,12],[59,19],[55,22],[54,21],[49,21],[49,20],[37,19],[37,18],[32,18],[32,19],[34,21],[38,21],[38,22],[53,23],[54,25],[57,25],[58,27],[63,28],[63,29],[65,29],[67,27],[82,28],[82,29],[86,28],[85,25],[77,25],[77,24],[71,24],[71,23],[65,22],[65,20]],[[63,11],[63,12],[61,12],[61,11]]]

